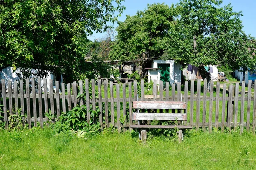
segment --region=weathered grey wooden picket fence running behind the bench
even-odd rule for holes
[[[197,82],[192,80],[190,84],[186,81],[184,85],[172,84],[171,88],[169,88],[169,82],[166,82],[165,88],[163,88],[162,81],[160,81],[160,85],[154,81],[153,94],[151,97],[149,95],[149,98],[148,95],[145,95],[146,88],[143,79],[139,83],[134,80],[128,84],[114,84],[111,81],[108,82],[108,79],[98,79],[97,81],[85,79],[85,81],[80,80],[78,83],[61,83],[61,92],[63,93],[60,93],[58,81],[55,82],[54,89],[52,80],[43,79],[43,82],[40,78],[36,80],[35,78],[26,79],[25,85],[23,80],[20,80],[19,83],[14,82],[13,89],[12,82],[8,82],[6,88],[5,80],[1,80],[0,96],[3,103],[0,105],[3,105],[3,113],[1,114],[4,117],[3,121],[6,122],[6,128],[8,127],[9,115],[18,114],[18,108],[20,108],[21,114],[24,115],[26,112],[27,123],[31,128],[37,126],[37,122],[40,122],[40,126],[43,127],[44,122],[48,121],[45,113],[49,113],[49,111],[58,118],[62,112],[70,111],[76,105],[86,105],[87,122],[90,121],[90,106],[93,110],[98,106],[101,127],[113,125],[120,130],[121,126],[129,128],[130,124],[135,123],[131,119],[132,102],[142,100],[187,102],[188,121],[183,122],[183,124],[191,125],[196,129],[202,127],[203,130],[206,130],[208,128],[211,132],[212,127],[221,131],[224,131],[225,128],[236,130],[236,127],[240,127],[241,133],[244,127],[247,131],[252,130],[253,133],[256,130],[256,93],[251,88],[251,80],[248,83],[247,91],[245,91],[244,82],[239,90],[238,82],[235,86],[230,84],[227,87],[227,84],[217,82],[214,85],[214,82],[211,81],[209,92],[207,92],[206,80],[198,80]],[[42,88],[37,88],[47,85],[47,81],[49,81],[49,89],[44,88],[42,91]],[[202,83],[204,83],[203,87],[201,87]],[[203,88],[202,93],[201,88]],[[172,90],[169,91],[169,89]],[[79,94],[84,94],[84,97],[77,98]],[[103,103],[105,108],[102,108]],[[102,110],[105,110],[105,115],[103,115]],[[109,110],[110,113],[108,113]],[[166,112],[171,111],[166,110]],[[105,120],[103,116],[105,116]],[[123,116],[126,119],[121,124],[120,118]]]

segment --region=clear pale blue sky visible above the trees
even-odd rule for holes
[[[137,11],[144,10],[147,8],[147,4],[166,3],[171,6],[172,3],[176,4],[178,2],[179,0],[125,0],[125,2],[122,2],[122,5],[126,7],[126,10],[118,20],[124,21],[126,15],[132,16],[136,14]],[[256,0],[223,0],[224,5],[227,5],[228,3],[231,3],[233,6],[233,11],[242,11],[243,16],[241,17],[241,20],[243,22],[244,32],[256,37]],[[117,24],[114,26],[117,26]],[[104,35],[105,33],[94,33],[92,37],[89,37],[89,39],[95,40],[104,37]]]

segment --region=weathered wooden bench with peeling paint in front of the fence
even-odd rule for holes
[[[132,120],[137,120],[138,125],[130,125],[131,128],[138,129],[178,129],[179,141],[183,138],[183,133],[181,129],[191,129],[191,126],[182,125],[182,122],[179,125],[140,125],[141,120],[163,120],[163,121],[186,121],[186,102],[162,102],[162,101],[134,101],[133,109],[138,109],[138,112],[132,113]],[[139,109],[172,109],[172,110],[183,110],[184,113],[142,113],[139,112]],[[141,139],[146,139],[146,131],[141,131]]]

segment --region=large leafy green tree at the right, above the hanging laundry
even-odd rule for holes
[[[222,0],[180,0],[175,6],[175,31],[167,59],[176,58],[199,67],[209,80],[204,65],[254,68],[255,38],[242,31],[242,16]]]

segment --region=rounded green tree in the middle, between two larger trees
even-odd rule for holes
[[[126,16],[124,22],[118,22],[110,58],[134,61],[143,70],[169,48],[173,21],[172,8],[165,4],[148,5],[146,10]]]

